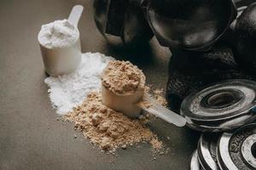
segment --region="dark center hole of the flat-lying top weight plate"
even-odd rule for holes
[[[222,92],[219,94],[213,94],[208,100],[207,104],[213,107],[222,107],[224,105],[230,105],[235,101],[236,97],[230,92]]]

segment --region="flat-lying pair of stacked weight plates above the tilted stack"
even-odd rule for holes
[[[256,120],[256,82],[218,82],[183,100],[187,126],[202,132],[224,132]]]

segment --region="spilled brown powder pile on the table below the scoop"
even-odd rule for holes
[[[67,121],[75,123],[75,127],[81,130],[85,138],[99,145],[102,150],[114,151],[119,147],[125,149],[127,145],[142,141],[153,144],[154,150],[161,148],[161,142],[145,126],[143,120],[131,120],[102,105],[100,92],[89,94],[82,105],[65,117]]]

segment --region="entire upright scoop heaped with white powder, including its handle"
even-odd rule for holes
[[[68,20],[43,25],[38,33],[44,68],[52,77],[69,74],[79,66],[81,44],[77,24],[82,11],[83,6],[76,5]]]

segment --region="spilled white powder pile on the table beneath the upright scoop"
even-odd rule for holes
[[[79,68],[69,75],[47,77],[49,99],[58,114],[66,114],[81,105],[92,90],[101,88],[102,70],[113,60],[104,54],[82,54]]]

